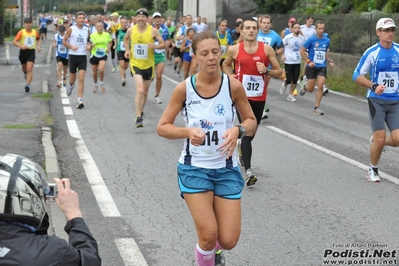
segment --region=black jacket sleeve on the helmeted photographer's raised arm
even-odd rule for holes
[[[90,233],[83,218],[74,218],[64,228],[69,235],[69,245],[60,265],[100,266],[97,241]]]

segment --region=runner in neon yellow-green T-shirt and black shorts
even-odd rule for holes
[[[109,35],[108,32],[104,31],[104,25],[101,21],[98,21],[96,23],[96,30],[97,32],[90,34],[90,42],[91,42],[90,64],[92,65],[93,68],[94,93],[98,91],[97,69],[100,71],[101,91],[105,92],[104,68],[108,57],[107,54],[112,45],[111,35]]]

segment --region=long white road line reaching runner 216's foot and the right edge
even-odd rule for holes
[[[321,152],[323,152],[325,154],[328,154],[328,155],[330,155],[332,157],[335,157],[335,158],[337,158],[337,159],[339,159],[339,160],[341,160],[341,161],[343,161],[345,163],[348,163],[348,164],[351,164],[353,166],[356,166],[356,167],[358,167],[358,168],[360,168],[362,170],[367,171],[369,169],[368,165],[359,163],[358,161],[355,161],[355,160],[353,160],[353,159],[351,159],[349,157],[346,157],[344,155],[341,155],[341,154],[336,153],[334,151],[331,151],[329,149],[323,148],[322,146],[319,146],[319,145],[317,145],[315,143],[312,143],[312,142],[307,141],[307,140],[305,140],[303,138],[295,136],[295,135],[293,135],[291,133],[288,133],[288,132],[286,132],[284,130],[281,130],[281,129],[277,128],[277,127],[274,127],[274,126],[265,126],[265,127],[270,129],[270,130],[273,130],[274,132],[279,133],[279,134],[281,134],[283,136],[289,137],[289,138],[291,138],[291,139],[293,139],[293,140],[295,140],[297,142],[305,144],[306,146],[309,146],[309,147],[311,147],[311,148],[313,148],[315,150],[321,151]],[[380,177],[382,179],[386,179],[386,180],[388,180],[388,181],[390,181],[390,182],[392,182],[392,183],[394,183],[396,185],[399,185],[399,179],[398,178],[393,177],[391,175],[388,175],[388,174],[386,174],[384,172],[381,172],[381,171],[378,171],[378,172],[380,173]]]

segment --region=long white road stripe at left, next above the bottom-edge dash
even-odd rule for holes
[[[79,127],[75,120],[67,120],[67,126],[71,137],[76,138],[76,151],[82,161],[83,168],[86,172],[93,194],[100,207],[101,213],[104,217],[120,217],[121,214],[116,207],[114,199],[109,192],[107,185],[101,176],[100,170],[91,156],[86,144],[82,139]]]

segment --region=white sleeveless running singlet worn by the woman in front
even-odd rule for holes
[[[194,83],[194,85],[193,85]],[[229,159],[221,156],[218,147],[223,144],[223,134],[234,126],[236,108],[231,99],[230,81],[222,74],[222,84],[215,96],[201,97],[195,88],[195,76],[186,79],[186,102],[182,108],[186,127],[198,127],[205,133],[205,140],[200,146],[184,140],[179,162],[196,167],[218,169],[237,166],[236,152]]]

